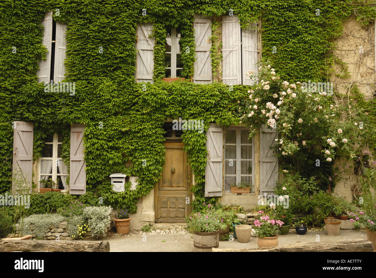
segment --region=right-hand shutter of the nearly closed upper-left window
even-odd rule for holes
[[[55,69],[53,71],[53,81],[61,82],[65,75],[64,60],[67,55],[67,25],[56,22],[56,39],[55,39]]]

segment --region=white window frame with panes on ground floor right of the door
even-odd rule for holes
[[[226,133],[228,130],[236,130],[236,144],[227,144],[226,143]],[[223,133],[223,144],[224,144],[224,182],[223,182],[223,186],[224,186],[224,192],[227,193],[227,192],[230,192],[229,189],[226,189],[226,176],[229,176],[229,177],[236,177],[235,178],[235,183],[239,183],[241,182],[241,177],[242,176],[251,176],[252,175],[252,185],[254,186],[255,185],[255,140],[254,138],[252,138],[251,140],[251,144],[241,144],[241,131],[242,130],[249,130],[248,128],[246,127],[235,127],[235,126],[230,126],[228,128],[224,128],[224,133]],[[226,158],[226,145],[236,145],[236,159],[232,159],[232,160],[236,160],[236,174],[226,174],[226,163],[229,163],[229,160],[230,158]],[[247,174],[241,174],[241,161],[243,160],[249,160],[249,159],[242,159],[241,158],[241,145],[252,145],[251,147],[251,151],[252,151],[252,156],[251,156],[251,159],[252,159],[252,174],[251,175],[247,175]]]

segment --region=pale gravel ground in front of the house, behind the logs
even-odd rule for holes
[[[181,230],[180,230],[181,229]],[[160,229],[152,233],[132,231],[127,235],[112,233],[105,240],[110,243],[111,252],[193,252],[193,234],[189,234],[185,228]],[[162,231],[165,231],[163,234]],[[317,236],[319,235],[319,237]],[[287,235],[279,235],[279,246],[291,243],[312,242],[319,239],[321,242],[339,241],[346,239],[364,239],[365,231],[341,230],[337,237],[330,237],[326,231],[308,231],[305,235],[298,235],[295,230],[290,230]],[[251,237],[248,243],[240,243],[238,240],[220,241],[219,248],[258,248],[257,238]]]

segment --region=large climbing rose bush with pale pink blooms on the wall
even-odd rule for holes
[[[256,80],[254,72],[248,76]],[[276,156],[293,156],[302,148],[321,148],[323,159],[331,162],[338,152],[355,157],[355,145],[362,140],[359,118],[347,115],[346,105],[336,104],[327,92],[304,90],[301,82],[281,82],[270,65],[259,67],[258,84],[239,112],[240,123],[250,127],[250,137],[265,128],[277,128]],[[303,90],[302,90],[303,89]],[[306,92],[305,92],[306,91]],[[350,106],[351,108],[351,106]]]

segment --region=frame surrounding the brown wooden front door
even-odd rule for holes
[[[181,147],[184,146],[182,140],[166,140],[164,142],[164,146],[166,147],[166,144],[170,144],[170,143],[180,143],[181,144]],[[179,148],[180,149],[180,148]],[[167,151],[167,149],[166,149]],[[187,156],[188,154],[186,152],[184,152],[185,156]],[[193,177],[193,173],[192,173],[192,170],[191,170],[191,165],[188,164],[188,158],[186,159],[187,161],[187,174],[186,175],[183,175],[183,177],[186,177],[188,178],[188,174],[190,176],[190,182],[187,181],[187,192],[188,192],[188,198],[189,198],[189,203],[188,203],[188,206],[187,206],[187,215],[190,215],[191,212],[192,212],[192,206],[191,206],[191,202],[192,202],[192,192],[191,192],[191,188],[192,188],[192,183],[193,183],[193,180],[192,180],[192,177]],[[183,165],[185,166],[185,165]],[[163,173],[163,171],[162,171]],[[161,177],[162,177],[162,173],[161,173],[161,176],[159,177],[159,180],[158,182],[155,184],[154,186],[154,212],[155,212],[155,215],[154,215],[154,219],[155,219],[155,222],[156,223],[181,223],[181,222],[185,222],[184,219],[177,219],[177,220],[169,220],[169,219],[163,219],[163,220],[158,220],[157,217],[158,217],[158,197],[159,197],[159,184],[162,182],[161,181]]]

